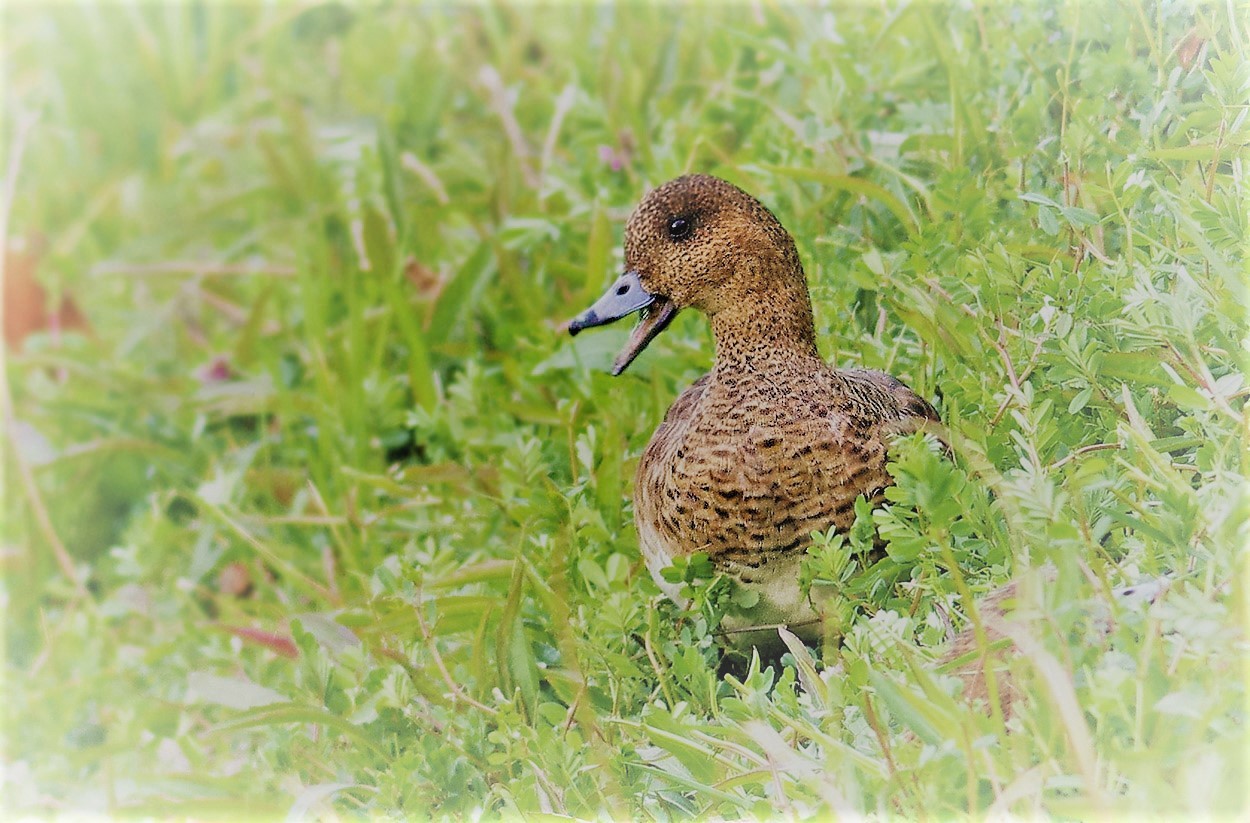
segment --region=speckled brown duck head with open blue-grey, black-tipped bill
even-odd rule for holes
[[[569,334],[641,311],[612,364],[615,375],[681,309],[695,308],[715,320],[762,309],[778,296],[786,303],[798,298],[811,328],[808,285],[790,234],[738,186],[691,174],[654,189],[634,210],[625,225],[625,273],[569,323]]]

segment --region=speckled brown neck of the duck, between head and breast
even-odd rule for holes
[[[718,369],[820,359],[806,281],[772,286],[766,296],[728,300],[711,315],[711,329]]]

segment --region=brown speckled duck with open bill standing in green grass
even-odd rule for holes
[[[700,552],[756,593],[722,618],[732,647],[778,648],[778,628],[819,643],[825,604],[799,583],[812,532],[848,530],[860,497],[881,502],[891,442],[938,413],[889,374],[824,360],[794,238],[734,184],[689,174],[652,189],[624,246],[624,274],[568,331],[639,314],[614,375],[686,309],[715,338],[711,369],[676,398],[638,464],[646,567],[680,605],[664,569]]]

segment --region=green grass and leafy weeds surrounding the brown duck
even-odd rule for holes
[[[9,240],[91,329],[5,364],[4,808],[1244,813],[1245,11],[6,5]],[[629,504],[705,323],[559,331],[689,170],[954,447],[742,678]],[[1014,577],[1005,718],[935,660]]]

